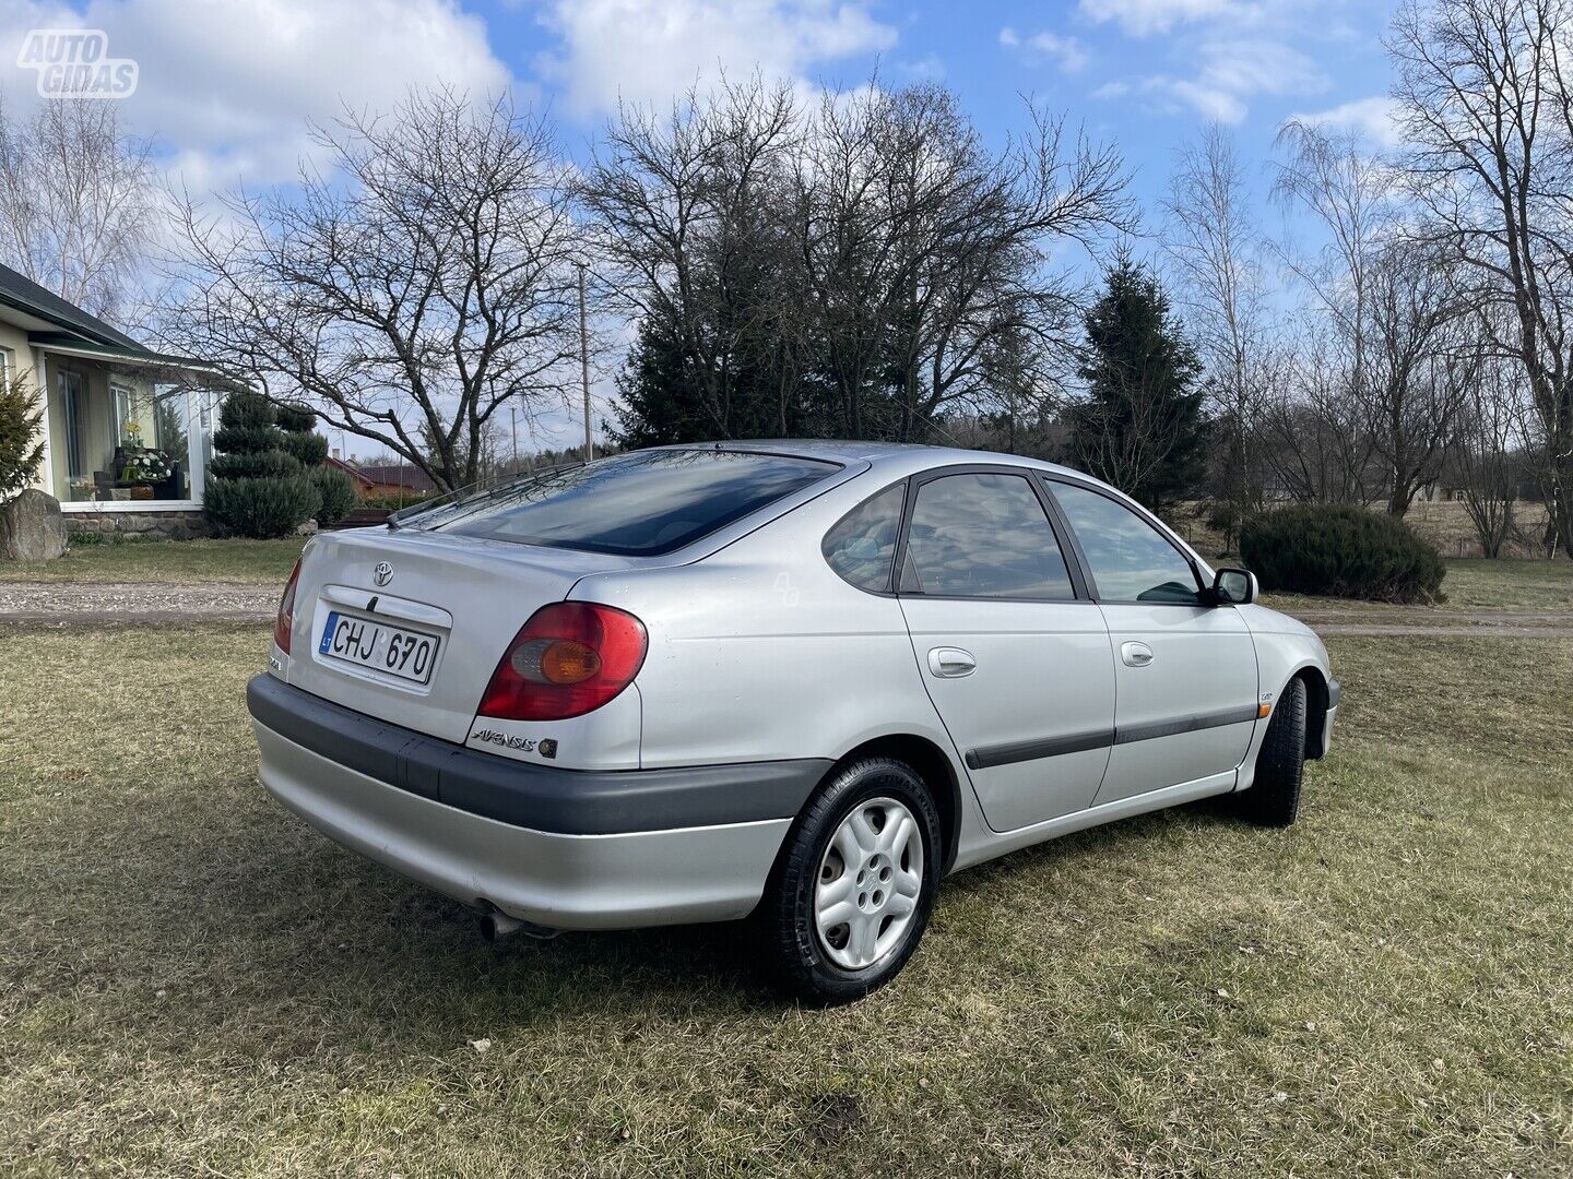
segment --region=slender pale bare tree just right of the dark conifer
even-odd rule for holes
[[[1183,146],[1164,201],[1164,253],[1206,371],[1213,420],[1227,439],[1213,486],[1225,549],[1262,506],[1260,464],[1251,448],[1279,377],[1268,308],[1265,242],[1246,192],[1233,137],[1218,124]]]

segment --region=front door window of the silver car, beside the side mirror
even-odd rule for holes
[[[1169,539],[1123,503],[1071,483],[1051,489],[1098,583],[1111,602],[1197,605],[1195,571]]]

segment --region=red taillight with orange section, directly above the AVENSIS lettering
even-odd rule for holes
[[[480,715],[566,720],[606,704],[645,662],[645,624],[596,602],[555,602],[524,624],[492,673]]]

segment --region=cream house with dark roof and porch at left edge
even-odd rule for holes
[[[44,398],[36,486],[69,530],[200,530],[222,396],[204,384],[223,384],[209,365],[153,352],[0,266],[0,376]]]

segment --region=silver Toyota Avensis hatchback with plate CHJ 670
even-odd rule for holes
[[[941,877],[1328,750],[1321,641],[1117,490],[922,446],[647,450],[318,536],[261,778],[489,934],[753,913],[867,994]]]

